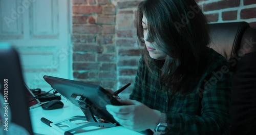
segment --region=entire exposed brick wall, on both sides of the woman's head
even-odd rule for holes
[[[113,90],[131,82],[120,94],[128,98],[143,48],[134,26],[142,0],[73,0],[73,75]],[[254,0],[197,0],[212,23],[247,21],[256,27]]]

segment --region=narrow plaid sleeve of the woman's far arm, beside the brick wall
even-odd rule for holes
[[[133,86],[133,91],[130,95],[130,99],[132,100],[137,100],[139,102],[141,102],[142,100],[142,95],[141,95],[141,91],[142,91],[142,78],[143,78],[143,74],[144,74],[144,61],[143,61],[143,56],[140,58],[140,61],[139,61],[139,66],[138,66],[138,69],[137,69],[137,73],[136,73],[136,77],[135,77],[135,83],[134,83],[134,86]]]

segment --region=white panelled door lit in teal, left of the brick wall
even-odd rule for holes
[[[71,2],[0,0],[0,42],[17,48],[30,88],[48,90],[44,75],[73,79]]]

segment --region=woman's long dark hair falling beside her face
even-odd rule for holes
[[[146,0],[137,11],[137,36],[143,44],[142,17],[147,18],[148,41],[167,54],[161,69],[161,83],[172,92],[186,92],[185,86],[199,72],[200,58],[210,42],[208,22],[195,0]],[[144,47],[144,61],[151,57]],[[150,70],[151,71],[151,70]]]

